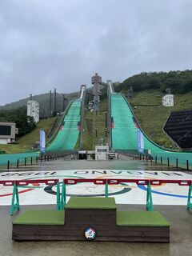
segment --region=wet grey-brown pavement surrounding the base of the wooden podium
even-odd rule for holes
[[[192,250],[192,212],[185,206],[156,206],[170,222],[170,244],[134,242],[13,242],[12,218],[7,206],[0,206],[0,255],[130,255],[130,256],[190,256]],[[42,206],[23,206],[22,210],[42,209]],[[53,209],[53,206],[43,206]],[[121,210],[143,210],[143,206],[118,205]],[[17,214],[15,214],[17,216]]]

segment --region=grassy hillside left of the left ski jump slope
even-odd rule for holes
[[[19,153],[30,150],[31,146],[33,146],[35,142],[39,141],[39,130],[43,129],[46,134],[48,134],[54,124],[54,120],[55,118],[40,120],[37,123],[37,127],[32,132],[18,138],[16,141],[17,144],[0,145],[0,149],[5,150],[6,153]]]

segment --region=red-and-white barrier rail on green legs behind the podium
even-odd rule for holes
[[[60,183],[62,182],[62,193],[60,193]],[[109,186],[118,185],[121,183],[136,183],[138,186],[147,186],[146,190],[146,210],[153,211],[153,200],[151,186],[161,186],[162,184],[178,184],[178,186],[189,186],[187,196],[187,210],[192,210],[191,194],[192,194],[192,181],[191,180],[169,180],[169,179],[130,179],[130,178],[107,178],[107,179],[79,179],[79,178],[64,178],[60,182],[59,179],[38,179],[38,180],[6,180],[0,181],[2,186],[14,186],[13,195],[10,206],[10,215],[14,214],[15,210],[19,210],[18,186],[28,186],[29,184],[45,184],[57,187],[57,210],[63,210],[66,205],[66,185],[76,185],[78,183],[94,183],[94,185],[105,186],[105,197],[109,196]],[[16,200],[16,202],[15,202]]]

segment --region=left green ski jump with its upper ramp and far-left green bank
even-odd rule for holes
[[[82,109],[84,108],[84,100],[86,95],[86,86],[81,86],[79,97],[69,103],[63,114],[62,121],[58,125],[58,130],[54,132],[46,147],[46,153],[54,152],[70,152],[80,140]],[[27,159],[38,158],[39,151],[26,152],[21,154],[2,154],[0,156],[0,166],[14,165],[25,162]],[[26,159],[26,160],[25,160]]]

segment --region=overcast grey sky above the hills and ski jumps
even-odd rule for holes
[[[0,0],[0,105],[192,64],[191,0]]]

